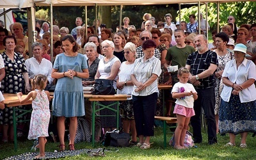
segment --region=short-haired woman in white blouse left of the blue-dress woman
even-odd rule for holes
[[[38,74],[43,74],[47,77],[47,84],[52,83],[52,63],[45,58],[42,58],[43,45],[40,42],[34,42],[32,44],[33,57],[25,61],[25,65],[28,70],[29,81]]]

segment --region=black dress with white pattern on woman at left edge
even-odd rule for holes
[[[22,54],[14,52],[14,60],[10,60],[5,52],[2,53],[4,60],[5,77],[2,80],[1,90],[3,93],[24,93],[24,77],[23,72],[27,72],[25,60]],[[22,108],[20,106],[19,108]],[[13,108],[0,109],[0,124],[13,124]],[[22,111],[17,111],[16,116]],[[22,116],[17,120],[26,120],[26,116]]]

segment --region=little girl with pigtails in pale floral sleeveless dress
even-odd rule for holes
[[[50,109],[49,109],[49,100],[50,93],[45,91],[44,88],[47,84],[47,77],[38,74],[31,81],[33,91],[29,92],[26,97],[22,99],[22,93],[17,93],[17,96],[21,103],[27,102],[29,99],[32,101],[32,114],[29,126],[29,140],[35,140],[38,138],[38,147],[40,154],[35,158],[45,157],[45,143],[47,142],[46,136],[48,135],[48,126],[50,121]]]

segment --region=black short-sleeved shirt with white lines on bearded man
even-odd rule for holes
[[[210,50],[203,54],[199,54],[198,51],[196,51],[188,56],[186,64],[190,65],[190,72],[195,76],[207,70],[211,64],[218,65],[217,54]],[[200,81],[201,84],[200,86],[195,86],[196,89],[214,87],[214,74],[204,79],[199,79],[198,81]]]

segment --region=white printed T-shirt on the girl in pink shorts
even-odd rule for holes
[[[193,86],[193,84],[190,84],[190,83],[175,83],[173,88],[172,88],[172,93],[175,92],[175,93],[180,93],[180,88],[184,88],[184,92],[193,92],[195,93],[196,90]],[[197,92],[196,92],[197,93]],[[190,95],[190,96],[185,96],[184,99],[177,99],[175,104],[179,104],[181,106],[184,106],[186,108],[193,108],[194,107],[194,97],[193,95]]]

